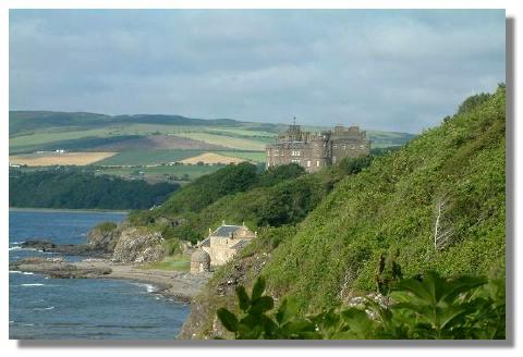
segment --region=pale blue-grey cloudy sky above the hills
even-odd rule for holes
[[[10,110],[419,133],[506,82],[503,10],[11,10]]]

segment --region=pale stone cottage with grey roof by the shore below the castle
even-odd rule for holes
[[[203,269],[207,267],[205,262],[200,264],[203,262],[200,260],[207,259],[204,258],[204,254],[210,259],[209,269],[210,266],[222,266],[255,237],[256,232],[252,232],[245,224],[232,225],[226,224],[223,221],[215,231],[209,229],[209,235],[204,241],[198,242],[197,250],[191,257],[191,272],[193,272],[193,266],[195,267],[195,273],[208,271],[199,270],[199,267],[204,267]]]

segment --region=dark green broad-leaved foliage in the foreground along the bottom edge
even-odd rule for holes
[[[236,287],[240,316],[220,308],[217,316],[238,340],[491,340],[506,337],[504,280],[443,279],[428,271],[399,280],[384,301],[365,298],[356,307],[302,317],[284,298],[276,313],[258,278],[251,296]]]

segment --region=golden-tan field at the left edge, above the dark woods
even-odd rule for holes
[[[115,152],[44,152],[10,156],[11,164],[28,167],[86,165],[113,156]]]

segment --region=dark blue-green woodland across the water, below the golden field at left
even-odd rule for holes
[[[19,172],[10,175],[11,207],[145,209],[163,201],[178,184],[149,185],[145,181],[125,181],[95,176],[76,170]]]

